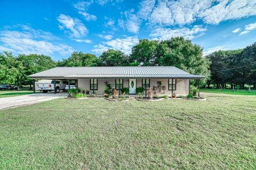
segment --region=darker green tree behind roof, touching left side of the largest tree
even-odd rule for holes
[[[158,41],[142,39],[139,44],[132,47],[130,63],[140,64],[141,66],[155,65]]]

